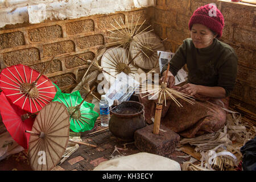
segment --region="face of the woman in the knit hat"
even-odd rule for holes
[[[193,24],[190,34],[193,44],[199,49],[210,46],[217,36],[217,34],[213,35],[213,32],[203,24]]]

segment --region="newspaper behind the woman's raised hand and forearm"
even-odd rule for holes
[[[174,57],[173,52],[165,52],[165,51],[158,51],[158,55],[160,53],[159,57],[159,68],[160,72],[162,72],[162,69],[164,65],[168,64],[172,57]],[[187,78],[187,72],[184,71],[183,68],[181,68],[178,72],[177,75],[175,76],[175,85],[179,85],[180,83],[185,81],[185,78]]]

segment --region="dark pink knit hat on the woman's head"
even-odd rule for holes
[[[217,38],[220,38],[222,35],[224,18],[220,10],[213,4],[201,6],[194,11],[188,23],[189,30],[191,30],[192,25],[195,23],[203,24],[210,28],[210,30],[216,32],[218,34]]]

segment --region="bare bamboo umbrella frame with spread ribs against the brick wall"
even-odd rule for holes
[[[141,16],[139,16],[139,18],[140,17]],[[112,32],[112,34],[114,34],[114,35],[113,36],[106,36],[106,38],[115,39],[115,40],[118,40],[118,41],[112,42],[112,43],[107,43],[107,44],[118,43],[119,44],[118,47],[121,46],[121,47],[124,47],[124,48],[129,48],[130,47],[130,43],[132,41],[135,41],[135,42],[138,41],[137,39],[135,39],[136,36],[147,34],[148,32],[153,31],[153,29],[148,31],[148,28],[151,27],[151,25],[150,25],[150,26],[144,28],[142,31],[139,32],[139,30],[141,30],[141,27],[143,26],[143,24],[146,22],[146,19],[143,21],[141,26],[139,26],[139,28],[136,30],[136,28],[138,26],[139,18],[137,19],[137,22],[136,22],[135,26],[133,26],[133,15],[131,16],[131,24],[130,24],[130,26],[129,26],[127,15],[125,15],[125,22],[126,23],[123,22],[121,16],[119,16],[119,18],[121,19],[121,24],[122,24],[123,27],[121,26],[120,23],[117,22],[117,20],[114,19],[115,23],[118,24],[118,28],[119,29],[117,27],[115,27],[112,23],[110,23],[110,25],[112,27],[114,27],[115,30],[117,30],[117,32],[113,32],[111,30],[108,30],[109,32]],[[147,39],[152,39],[152,37],[148,37]]]

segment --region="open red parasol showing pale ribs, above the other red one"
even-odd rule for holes
[[[0,88],[11,103],[30,113],[41,110],[56,94],[46,76],[22,64],[2,70]]]

